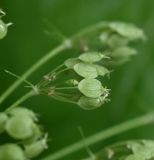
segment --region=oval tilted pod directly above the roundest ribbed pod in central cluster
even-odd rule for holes
[[[96,68],[92,64],[78,63],[74,66],[75,72],[84,78],[96,78],[98,76]]]

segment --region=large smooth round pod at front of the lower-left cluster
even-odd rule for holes
[[[13,116],[6,123],[6,131],[15,139],[26,139],[33,134],[33,123],[29,116]]]

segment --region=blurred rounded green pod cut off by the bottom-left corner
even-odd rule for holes
[[[26,160],[23,150],[16,144],[0,146],[0,160]]]

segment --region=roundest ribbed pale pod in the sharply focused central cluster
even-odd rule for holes
[[[100,97],[104,88],[100,81],[97,79],[83,79],[78,85],[78,89],[86,97],[97,98]]]

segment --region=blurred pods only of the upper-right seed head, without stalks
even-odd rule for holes
[[[106,28],[106,32],[100,33],[100,41],[109,48],[112,65],[123,64],[137,54],[136,49],[129,47],[129,42],[146,39],[143,31],[133,24],[110,22]]]

